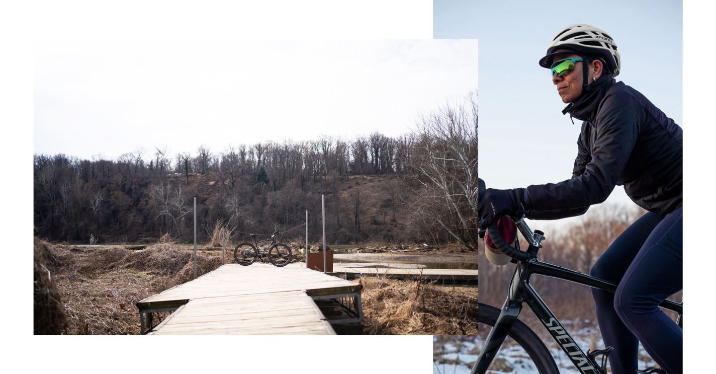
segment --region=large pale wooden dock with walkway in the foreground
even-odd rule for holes
[[[226,264],[137,307],[142,333],[156,335],[334,334],[334,325],[362,324],[361,288],[300,263]],[[173,313],[153,326],[160,312]]]

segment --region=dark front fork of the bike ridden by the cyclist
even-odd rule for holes
[[[495,325],[490,329],[488,338],[485,339],[483,349],[480,350],[478,360],[475,361],[475,365],[473,365],[473,370],[470,371],[470,374],[485,374],[495,355],[497,355],[498,350],[500,350],[500,345],[502,345],[508,333],[512,330],[512,326],[515,324],[522,310],[523,300],[519,292],[520,285],[520,272],[515,272],[510,285],[510,289],[513,292],[511,292],[507,300],[505,300],[505,305],[502,306]],[[478,313],[480,313],[480,310],[478,310]]]

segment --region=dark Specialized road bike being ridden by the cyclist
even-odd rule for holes
[[[490,367],[490,363],[498,355],[500,345],[503,344],[507,336],[521,345],[540,374],[559,373],[554,358],[552,358],[549,350],[538,335],[531,328],[528,328],[525,323],[518,320],[523,303],[527,303],[557,345],[579,370],[579,373],[606,374],[606,360],[611,347],[604,350],[587,350],[584,353],[549,310],[549,307],[538,295],[537,291],[530,285],[530,280],[533,275],[546,275],[547,277],[569,280],[579,285],[586,285],[609,292],[616,292],[616,285],[591,275],[541,262],[538,260],[537,254],[542,247],[542,241],[545,240],[544,233],[539,230],[533,232],[523,219],[516,220],[515,223],[521,235],[527,240],[528,249],[526,251],[520,250],[519,246],[512,247],[508,245],[503,237],[500,236],[496,224],[488,227],[490,238],[497,246],[497,249],[512,257],[512,262],[516,263],[516,270],[508,288],[507,300],[505,300],[505,304],[501,309],[482,303],[478,304],[478,322],[480,323],[478,328],[480,330],[488,328],[488,326],[491,328],[470,374],[485,374]],[[682,327],[682,302],[664,300],[659,307],[678,313],[677,323],[679,327]],[[639,370],[637,373],[663,373],[663,371],[657,368],[647,368],[646,370]]]

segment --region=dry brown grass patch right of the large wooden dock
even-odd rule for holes
[[[476,335],[478,299],[433,283],[362,277],[366,334]]]

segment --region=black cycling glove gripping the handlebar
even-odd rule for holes
[[[513,190],[488,188],[480,194],[478,196],[478,213],[480,214],[480,223],[478,225],[480,229],[486,230],[505,215],[522,217],[525,213],[524,191],[525,189],[523,188]]]

